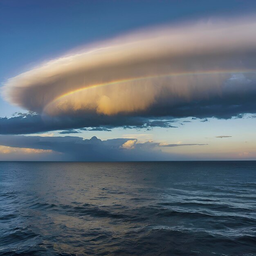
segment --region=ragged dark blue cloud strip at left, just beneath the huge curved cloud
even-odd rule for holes
[[[47,132],[53,130],[63,130],[61,134],[79,133],[79,130],[88,131],[110,131],[111,128],[124,127],[132,128],[152,128],[163,127],[172,128],[171,120],[149,121],[142,117],[111,117],[111,121],[106,116],[74,116],[74,117],[49,117],[35,113],[21,113],[17,117],[0,118],[0,134],[31,134]],[[88,127],[88,128],[87,128]]]

